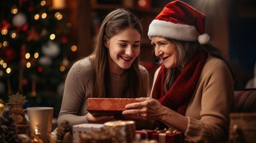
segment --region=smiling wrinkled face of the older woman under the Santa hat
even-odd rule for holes
[[[151,43],[155,49],[155,55],[160,57],[166,69],[177,66],[177,47],[165,38],[153,36]]]

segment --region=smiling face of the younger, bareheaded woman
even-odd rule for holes
[[[112,73],[121,75],[125,69],[131,67],[132,62],[140,54],[141,35],[132,27],[119,32],[104,45],[109,49],[109,67]]]

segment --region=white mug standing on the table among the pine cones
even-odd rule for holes
[[[29,122],[30,136],[33,138],[35,130],[41,134],[44,143],[51,140],[51,124],[53,121],[53,107],[29,107],[23,110],[24,117]]]

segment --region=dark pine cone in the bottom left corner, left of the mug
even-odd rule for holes
[[[13,113],[5,107],[0,115],[0,142],[22,142],[17,135],[17,126],[14,123]]]

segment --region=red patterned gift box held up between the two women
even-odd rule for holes
[[[135,98],[88,98],[87,111],[93,116],[121,117],[125,105],[136,102]]]

